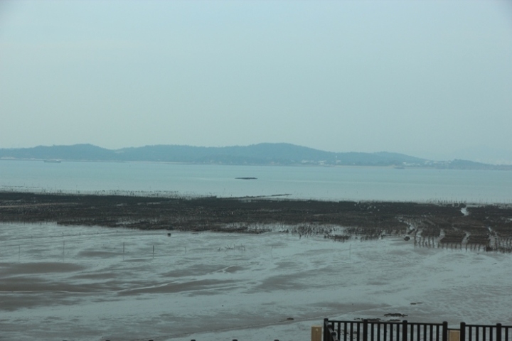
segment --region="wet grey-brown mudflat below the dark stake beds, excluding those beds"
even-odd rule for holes
[[[387,313],[512,324],[512,256],[495,251],[52,223],[4,223],[0,240],[0,340],[307,340],[323,318]]]

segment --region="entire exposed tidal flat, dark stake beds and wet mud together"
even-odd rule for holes
[[[0,220],[0,340],[512,324],[510,205],[0,193]]]

